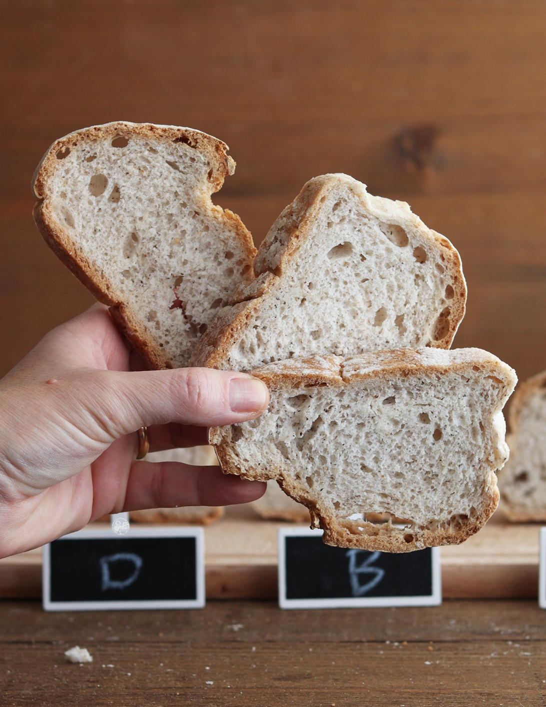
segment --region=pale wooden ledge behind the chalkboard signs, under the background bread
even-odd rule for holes
[[[227,508],[224,518],[206,526],[207,598],[275,598],[277,530],[285,525],[292,524],[262,520],[251,508],[234,506]],[[444,598],[536,597],[539,527],[509,523],[494,515],[462,545],[442,547]],[[41,549],[0,560],[0,597],[41,595]]]

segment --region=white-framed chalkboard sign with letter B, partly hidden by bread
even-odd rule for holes
[[[278,535],[282,609],[422,607],[441,604],[439,548],[389,553],[331,547],[322,530]]]

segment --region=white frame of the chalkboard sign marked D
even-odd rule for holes
[[[45,611],[112,611],[112,609],[203,609],[205,606],[205,536],[202,527],[130,527],[117,536],[111,528],[99,530],[83,528],[59,540],[92,540],[140,537],[194,537],[196,551],[196,598],[169,600],[121,600],[119,602],[52,602],[51,600],[51,555],[49,543],[42,547],[42,605]]]

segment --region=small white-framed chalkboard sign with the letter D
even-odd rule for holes
[[[85,528],[43,549],[47,611],[205,605],[203,528]]]

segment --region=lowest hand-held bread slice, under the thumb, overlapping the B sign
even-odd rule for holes
[[[400,349],[252,373],[269,387],[268,409],[211,428],[209,441],[224,472],[277,479],[324,542],[388,552],[456,544],[497,508],[495,472],[509,455],[502,407],[517,379],[496,356]]]

